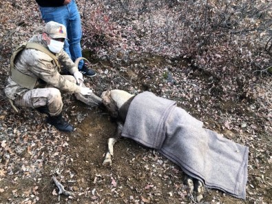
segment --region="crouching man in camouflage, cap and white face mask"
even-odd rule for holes
[[[63,101],[60,90],[76,96],[91,95],[92,90],[76,85],[83,81],[83,75],[63,51],[66,33],[64,25],[50,21],[45,24],[42,34],[19,46],[10,59],[5,94],[15,105],[48,114],[48,123],[56,129],[72,132],[74,127],[61,116]],[[60,64],[72,75],[61,75]]]

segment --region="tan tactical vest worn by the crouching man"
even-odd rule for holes
[[[35,49],[35,50],[44,52],[45,54],[48,54],[53,59],[56,66],[58,66],[59,68],[60,66],[59,66],[58,59],[56,59],[56,56],[52,54],[52,52],[50,52],[43,45],[39,43],[30,43],[30,42],[25,42],[19,45],[19,47],[15,49],[15,51],[12,54],[12,57],[10,58],[10,75],[12,76],[12,80],[18,83],[19,85],[21,85],[21,87],[32,90],[35,87],[39,78],[34,76],[29,76],[27,74],[23,74],[22,72],[19,72],[19,70],[14,68],[14,60],[17,57],[17,54],[19,54],[19,52],[21,52],[24,49]]]

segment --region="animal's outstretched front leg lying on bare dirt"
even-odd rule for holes
[[[109,138],[107,140],[107,153],[103,161],[103,165],[112,165],[112,157],[114,156],[114,144],[121,138],[123,125],[118,123],[117,133],[115,138]]]

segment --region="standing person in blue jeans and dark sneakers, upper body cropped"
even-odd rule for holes
[[[36,0],[45,23],[55,21],[67,28],[64,50],[72,61],[82,57],[81,51],[81,17],[75,0]],[[79,72],[85,76],[96,76],[96,72],[87,67],[83,60],[79,62]]]

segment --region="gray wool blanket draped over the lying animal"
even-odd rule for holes
[[[155,148],[207,187],[246,198],[249,147],[202,128],[174,101],[151,92],[138,94],[127,113],[122,136]]]

